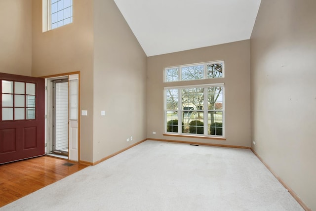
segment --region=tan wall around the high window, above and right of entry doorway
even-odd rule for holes
[[[32,76],[80,71],[80,160],[93,160],[93,0],[73,0],[73,23],[42,33],[42,0],[32,0]]]

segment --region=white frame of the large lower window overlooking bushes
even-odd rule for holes
[[[208,87],[216,87],[216,86],[222,86],[223,89],[222,89],[222,96],[223,96],[223,108],[222,110],[209,110],[208,109],[208,92],[206,91]],[[182,127],[182,121],[179,121],[179,120],[182,120],[182,112],[184,111],[182,109],[182,93],[181,93],[181,89],[183,88],[204,88],[204,102],[203,102],[203,123],[207,123],[206,124],[206,127],[205,127],[205,124],[204,124],[204,132],[203,134],[195,134],[195,133],[182,133],[182,130],[179,129]],[[167,89],[178,89],[178,109],[176,110],[167,110],[166,109],[166,105],[167,105],[167,99],[166,99],[166,90]],[[183,85],[183,86],[168,86],[168,87],[164,87],[163,89],[163,94],[164,94],[164,102],[163,102],[163,107],[164,107],[164,115],[163,115],[163,120],[164,120],[164,133],[165,134],[177,134],[177,135],[184,135],[184,136],[208,136],[208,137],[220,137],[220,138],[225,138],[225,85],[224,83],[220,83],[220,84],[199,84],[199,85]],[[175,111],[175,112],[178,112],[178,132],[168,132],[167,131],[167,111]],[[192,112],[195,112],[195,111],[201,111],[201,110],[190,110]],[[209,111],[219,111],[219,112],[222,112],[223,113],[223,116],[222,116],[222,135],[209,135],[208,134],[208,112]],[[205,115],[206,114],[206,115]]]

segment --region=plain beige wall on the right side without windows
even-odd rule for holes
[[[254,150],[316,210],[316,1],[262,0],[251,36]]]

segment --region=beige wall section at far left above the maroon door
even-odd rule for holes
[[[0,0],[0,72],[31,76],[32,0]]]

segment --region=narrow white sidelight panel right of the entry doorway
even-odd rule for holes
[[[69,160],[79,161],[79,75],[69,76]]]

